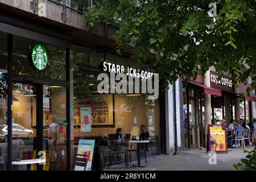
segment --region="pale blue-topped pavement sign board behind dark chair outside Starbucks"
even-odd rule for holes
[[[77,154],[88,155],[88,162],[85,171],[90,171],[92,168],[92,160],[94,153],[95,140],[80,139]],[[81,166],[75,166],[75,171],[84,171]]]

